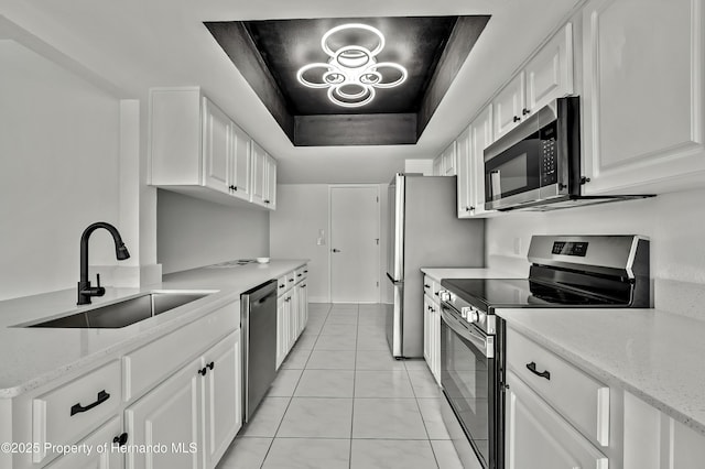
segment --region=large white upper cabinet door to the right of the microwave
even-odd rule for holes
[[[705,170],[703,14],[703,0],[586,4],[586,194]]]

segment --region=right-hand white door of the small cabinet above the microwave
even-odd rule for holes
[[[573,94],[573,24],[563,30],[524,68],[527,108],[522,117],[541,109],[556,98]]]

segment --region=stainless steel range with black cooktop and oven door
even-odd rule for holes
[[[466,467],[502,469],[505,323],[498,308],[650,307],[649,241],[639,236],[534,236],[528,279],[443,280],[444,418]]]

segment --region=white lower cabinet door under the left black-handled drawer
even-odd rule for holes
[[[78,447],[85,445],[90,449],[90,454],[85,451],[68,452],[58,458],[46,469],[122,469],[124,467],[124,454],[119,450],[111,450],[113,440],[122,435],[122,419],[120,417],[111,418],[107,424],[98,428],[83,441],[78,443]],[[107,451],[98,451],[98,447],[108,445]],[[131,441],[127,441],[131,445]]]

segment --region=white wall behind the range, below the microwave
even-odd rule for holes
[[[500,215],[487,221],[488,264],[499,266],[501,257],[509,257],[528,272],[532,234],[644,234],[651,240],[655,306],[705,318],[704,201],[705,189],[698,189],[553,212]]]

